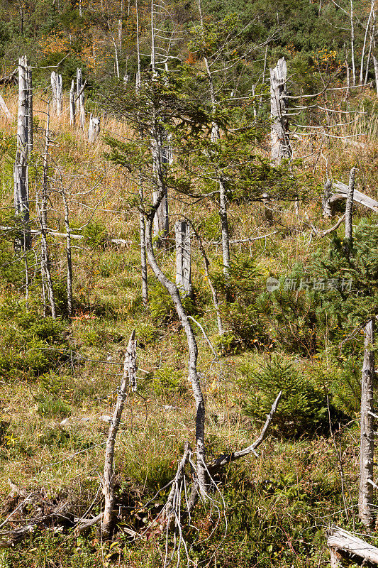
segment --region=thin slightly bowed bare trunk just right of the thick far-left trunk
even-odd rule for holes
[[[55,307],[55,295],[54,288],[52,285],[51,271],[50,271],[50,256],[48,252],[48,239],[47,239],[47,228],[48,228],[48,148],[50,146],[50,110],[48,107],[48,119],[46,121],[46,131],[45,131],[45,149],[43,151],[43,187],[42,187],[42,202],[40,209],[40,236],[42,240],[42,255],[41,255],[41,265],[42,272],[46,278],[46,285],[48,288],[48,298],[50,302],[51,315],[55,319],[57,317],[56,307]]]

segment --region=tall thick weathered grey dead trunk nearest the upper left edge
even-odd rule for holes
[[[21,222],[23,238],[16,249],[30,249],[28,152],[33,149],[33,92],[31,70],[26,55],[18,60],[17,151],[13,167],[14,209]]]

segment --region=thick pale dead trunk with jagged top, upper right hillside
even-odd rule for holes
[[[272,160],[280,163],[290,160],[291,146],[289,142],[287,102],[285,98],[287,82],[287,65],[284,58],[278,60],[276,67],[270,69],[270,114],[272,126],[270,131],[272,143]]]

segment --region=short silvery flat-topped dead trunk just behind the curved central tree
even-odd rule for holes
[[[190,227],[187,221],[177,221],[174,224],[176,236],[176,285],[180,293],[190,296],[193,292],[191,285],[191,242]]]

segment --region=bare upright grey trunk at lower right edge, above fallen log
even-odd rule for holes
[[[365,326],[365,351],[362,367],[361,391],[361,438],[360,438],[360,486],[358,491],[358,514],[361,522],[374,527],[375,506],[373,503],[374,472],[374,320]]]

